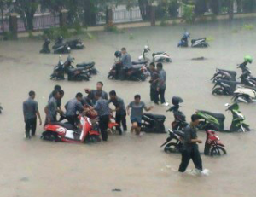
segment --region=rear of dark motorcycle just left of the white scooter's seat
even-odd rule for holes
[[[234,95],[236,84],[239,83],[236,81],[217,80],[216,84],[212,88],[212,95]]]

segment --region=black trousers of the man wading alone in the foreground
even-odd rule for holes
[[[192,159],[193,163],[195,165],[195,168],[202,171],[202,162],[201,162],[201,156],[198,151],[198,148],[192,148],[191,150],[184,150],[182,153],[182,162],[179,165],[178,171],[184,172],[186,171],[189,160]]]

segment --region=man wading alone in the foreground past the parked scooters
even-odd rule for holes
[[[184,130],[182,162],[178,169],[180,172],[186,171],[190,159],[193,160],[195,168],[202,171],[202,161],[197,145],[197,143],[201,143],[202,141],[197,138],[195,129],[201,118],[194,114],[191,119],[192,122]]]

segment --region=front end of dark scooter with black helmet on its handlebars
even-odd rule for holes
[[[167,112],[172,112],[174,116],[174,121],[172,122],[172,130],[184,130],[188,125],[186,122],[186,116],[179,111],[180,103],[183,102],[183,99],[178,96],[172,97],[172,107],[167,110]]]

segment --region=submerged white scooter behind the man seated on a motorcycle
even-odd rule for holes
[[[148,58],[148,53],[150,51],[150,48],[146,45],[143,49],[142,55],[138,57],[139,61],[151,61]],[[170,55],[168,55],[166,52],[157,52],[152,54],[152,61],[156,62],[172,62],[172,59]]]

